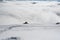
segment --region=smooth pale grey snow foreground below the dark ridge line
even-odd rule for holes
[[[18,37],[20,40],[60,40],[60,27],[20,25],[0,33],[0,40],[5,40],[10,37]]]

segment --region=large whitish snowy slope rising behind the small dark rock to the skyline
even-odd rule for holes
[[[57,4],[57,2],[36,2],[36,4],[32,4],[32,2],[6,2],[1,3],[0,14],[9,15],[13,18],[12,21],[15,18],[17,22],[13,24],[22,24],[25,21],[30,24],[54,24],[60,22],[60,18],[56,15],[56,13],[60,13],[60,6]],[[5,25],[11,23],[5,22]],[[3,21],[2,24],[4,24]]]

